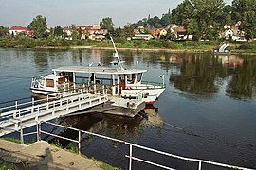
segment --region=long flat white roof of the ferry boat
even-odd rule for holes
[[[119,69],[112,67],[85,67],[85,66],[64,66],[56,69],[52,69],[53,72],[74,72],[74,73],[95,73],[95,74],[106,74],[106,75],[119,75],[119,74],[137,74],[144,73],[147,70],[139,69]]]

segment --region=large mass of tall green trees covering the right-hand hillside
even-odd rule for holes
[[[184,0],[161,18],[149,15],[132,26],[152,29],[174,23],[185,26],[187,34],[192,34],[194,40],[215,40],[223,26],[238,21],[242,22],[239,28],[245,32],[247,40],[256,37],[256,0],[233,0],[231,5],[225,5],[223,0]]]

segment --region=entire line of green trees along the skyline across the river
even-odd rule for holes
[[[102,29],[108,30],[109,34],[116,37],[118,42],[123,42],[127,37],[132,37],[134,29],[139,26],[145,27],[144,33],[150,33],[151,29],[166,27],[169,24],[184,26],[188,35],[193,35],[195,41],[201,39],[217,40],[219,32],[225,25],[233,25],[241,21],[239,27],[245,32],[247,40],[256,37],[256,0],[233,0],[231,5],[226,5],[223,0],[184,0],[172,11],[162,14],[161,18],[150,15],[134,24],[127,24],[123,28],[114,28],[112,18],[103,18],[100,22]],[[65,37],[63,28],[55,26],[46,31],[46,17],[36,16],[27,28],[34,31],[35,38]],[[72,40],[80,39],[82,32],[75,25]],[[9,33],[8,28],[0,26],[0,37]]]

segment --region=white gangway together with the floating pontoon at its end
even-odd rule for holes
[[[108,96],[105,89],[96,93],[69,93],[65,97],[46,98],[0,108],[0,136],[35,126],[38,121],[49,121],[65,115],[101,112],[134,117],[145,108],[142,100]],[[79,112],[81,110],[86,110]]]

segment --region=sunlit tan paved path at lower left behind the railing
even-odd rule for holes
[[[84,158],[45,141],[29,145],[0,139],[0,164],[11,169],[86,169],[100,170],[101,162]]]

